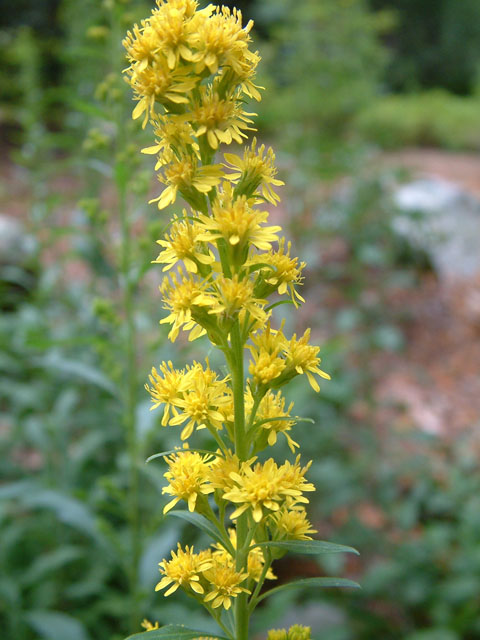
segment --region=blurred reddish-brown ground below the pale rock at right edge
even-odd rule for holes
[[[421,286],[394,301],[408,307],[406,350],[377,357],[381,423],[454,438],[480,425],[480,273]]]

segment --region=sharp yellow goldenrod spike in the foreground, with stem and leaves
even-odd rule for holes
[[[182,588],[213,616],[224,635],[247,640],[249,620],[268,595],[292,587],[357,586],[337,578],[309,578],[265,590],[276,579],[272,563],[287,551],[353,552],[313,540],[306,494],[315,490],[292,437],[301,418],[292,414],[282,388],[305,375],[314,391],[319,347],[310,331],[287,337],[276,326],[274,308],[298,307],[305,266],[291,255],[278,225],[265,208],[279,201],[275,156],[255,138],[240,155],[224,146],[247,142],[255,116],[247,99],[260,100],[255,70],[260,60],[249,48],[252,22],[240,11],[195,0],[157,0],[149,18],[128,32],[125,71],[137,104],[133,118],[153,126],[164,185],[152,200],[159,209],[187,204],[174,214],[155,260],[169,272],[160,287],[172,342],[206,336],[225,356],[228,373],[209,362],[177,369],[153,368],[145,385],[152,409],[163,408],[162,425],[178,429],[181,447],[161,452],[168,470],[164,513],[198,526],[212,538],[208,549],[180,543],[160,562],[156,586],[165,596]],[[272,300],[273,298],[273,300]],[[245,361],[248,364],[245,366]],[[190,445],[208,430],[216,450]],[[284,437],[293,461],[263,454]],[[184,503],[184,509],[178,509]],[[148,621],[141,637],[199,638],[207,634]],[[272,630],[270,640],[307,640],[310,629]],[[146,635],[144,635],[146,634]],[[137,636],[133,636],[137,637]]]

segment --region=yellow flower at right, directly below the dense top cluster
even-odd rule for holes
[[[252,120],[242,108],[242,98],[239,92],[220,98],[213,87],[200,87],[198,98],[192,107],[191,122],[197,137],[206,135],[208,144],[217,149],[221,143],[231,144],[232,141],[242,143],[247,135]]]

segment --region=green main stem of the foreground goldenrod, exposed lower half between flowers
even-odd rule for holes
[[[240,326],[235,321],[231,330],[231,373],[233,387],[233,406],[235,412],[235,453],[240,462],[247,459],[248,448],[245,433],[245,399],[243,372],[243,344],[240,337]],[[236,570],[245,573],[247,569],[248,553],[245,542],[248,536],[247,514],[243,513],[237,520],[237,557]],[[248,600],[247,593],[240,593],[235,598],[235,640],[248,640]]]

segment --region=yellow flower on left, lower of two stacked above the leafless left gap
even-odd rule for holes
[[[191,274],[172,273],[160,285],[163,295],[164,309],[170,313],[160,320],[160,324],[171,324],[168,337],[173,342],[181,328],[190,331],[189,340],[195,340],[205,333],[205,329],[198,321],[208,321],[208,314],[204,309],[212,304],[211,298],[205,294],[208,283],[194,278]],[[203,311],[203,313],[202,313]]]

